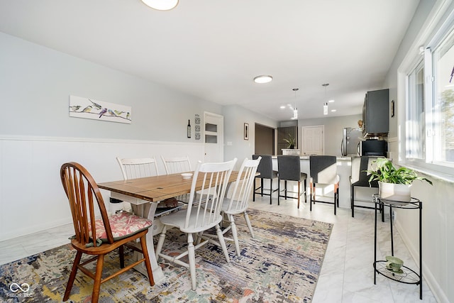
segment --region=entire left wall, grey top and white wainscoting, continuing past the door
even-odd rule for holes
[[[70,95],[132,106],[133,121],[72,118]],[[70,222],[59,177],[64,162],[80,162],[96,182],[121,180],[116,156],[189,155],[195,167],[204,143],[194,132],[187,138],[187,120],[194,128],[195,114],[222,114],[219,104],[4,33],[0,104],[0,241]],[[248,111],[244,117],[251,126],[260,119]],[[225,119],[225,130],[236,128],[230,123]],[[244,145],[243,132],[229,140]]]

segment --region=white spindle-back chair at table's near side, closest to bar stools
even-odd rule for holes
[[[226,228],[222,230],[224,239],[227,241],[233,241],[235,243],[236,254],[240,256],[240,243],[238,241],[238,230],[235,224],[235,216],[238,214],[243,214],[246,224],[248,225],[250,236],[254,238],[253,226],[250,224],[250,219],[248,216],[248,201],[250,194],[253,191],[255,174],[257,172],[257,167],[260,164],[262,158],[259,156],[255,160],[250,160],[246,158],[241,164],[240,170],[238,172],[238,177],[236,181],[230,185],[231,190],[228,191],[227,197],[224,198],[222,204],[223,219],[226,221]],[[232,231],[232,237],[228,238],[225,236],[227,231]],[[214,238],[213,234],[203,233],[201,238]]]

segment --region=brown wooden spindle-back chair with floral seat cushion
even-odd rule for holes
[[[153,222],[128,212],[120,212],[109,217],[98,185],[94,182],[92,175],[79,163],[63,164],[60,168],[60,177],[70,202],[74,224],[75,236],[71,240],[71,245],[77,250],[63,301],[67,301],[70,297],[77,270],[81,270],[94,280],[92,292],[92,302],[94,303],[98,302],[101,283],[111,280],[142,262],[145,262],[150,285],[155,285],[145,238],[148,228]],[[96,214],[101,214],[101,218],[96,219]],[[135,246],[134,242],[137,239],[140,239],[140,247]],[[123,246],[143,253],[143,258],[125,267]],[[119,249],[121,269],[109,277],[102,278],[104,255],[111,253],[116,248]],[[83,254],[93,257],[81,263]],[[96,272],[93,273],[85,268],[85,265],[95,260]]]

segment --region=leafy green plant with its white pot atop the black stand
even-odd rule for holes
[[[410,202],[410,186],[414,180],[423,180],[432,184],[425,177],[418,177],[414,170],[408,167],[394,167],[387,158],[377,158],[374,161],[375,170],[367,170],[370,174],[369,182],[378,181],[379,197],[395,201]]]

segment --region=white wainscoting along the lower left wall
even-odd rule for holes
[[[0,136],[0,241],[72,221],[60,181],[64,162],[79,162],[96,182],[121,180],[116,157],[188,155],[194,169],[204,159],[204,144],[92,138]],[[109,192],[101,190],[109,204]]]

